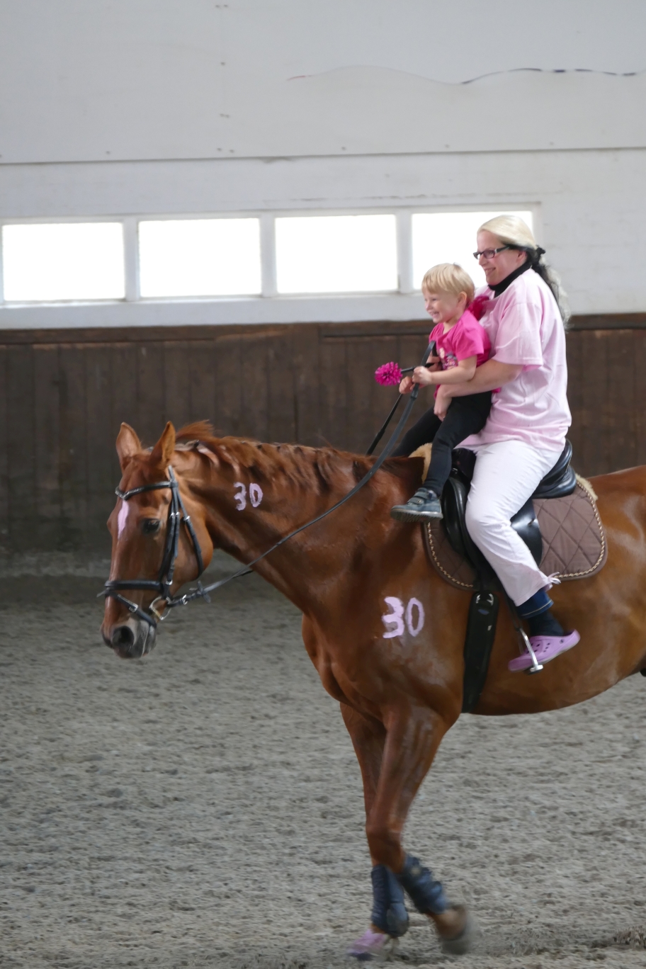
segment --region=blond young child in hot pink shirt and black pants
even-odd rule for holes
[[[489,359],[491,350],[489,337],[468,309],[474,299],[474,282],[461,266],[433,266],[422,280],[421,292],[426,312],[436,325],[429,341],[436,341],[438,357],[432,358],[436,364],[432,370],[418,366],[413,377],[404,377],[400,393],[410,393],[414,384],[434,386],[472,380],[476,368]],[[470,434],[482,429],[490,410],[491,391],[474,393],[453,397],[444,421],[431,408],[415,423],[393,456],[411,454],[432,441],[431,463],[424,484],[405,505],[395,505],[390,510],[391,517],[397,521],[442,517],[440,496],[450,474],[451,452]]]

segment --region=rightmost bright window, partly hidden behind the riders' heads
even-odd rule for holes
[[[483,222],[504,212],[419,212],[413,216],[413,281],[415,289],[427,269],[438,263],[458,263],[478,286],[484,286],[484,273],[473,253],[476,234]],[[531,212],[514,212],[532,226]]]

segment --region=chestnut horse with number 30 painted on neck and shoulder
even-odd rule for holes
[[[152,451],[144,451],[132,427],[122,424],[116,450],[124,491],[163,483],[174,473],[204,565],[214,548],[252,562],[330,508],[374,463],[331,448],[216,439],[206,423],[185,427],[177,443],[167,424]],[[421,466],[420,458],[387,459],[349,502],[272,551],[255,571],[303,613],[305,648],[323,687],[340,703],[352,737],[376,866],[376,908],[366,935],[403,934],[403,886],[435,922],[447,951],[457,940],[452,951],[460,952],[467,946],[464,909],[446,903],[440,883],[405,854],[401,841],[417,789],[460,715],[470,602],[469,594],[447,585],[430,567],[421,528],[388,514],[413,493]],[[646,468],[593,483],[607,562],[597,576],[551,592],[555,615],[566,629],[580,632],[580,645],[538,675],[508,672],[518,642],[503,607],[475,713],[538,713],[580,703],[646,666]],[[127,497],[108,519],[110,579],[157,579],[170,488]],[[194,543],[187,529],[180,532],[173,594],[198,573]],[[107,599],[102,634],[119,656],[138,657],[152,647],[156,630],[141,614],[156,594],[130,593],[139,613],[129,612],[118,598]],[[379,885],[375,872],[385,873]],[[388,904],[398,919],[386,920],[385,927]]]

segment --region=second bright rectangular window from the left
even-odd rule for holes
[[[139,222],[142,297],[257,296],[260,219]]]

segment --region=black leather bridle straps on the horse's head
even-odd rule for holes
[[[134,615],[137,615],[139,619],[143,619],[151,626],[157,625],[154,616],[158,619],[165,619],[169,614],[169,609],[172,609],[173,606],[185,606],[189,602],[187,596],[173,597],[170,594],[170,586],[172,585],[172,577],[175,571],[175,560],[179,548],[179,532],[182,524],[186,525],[186,530],[189,533],[193,550],[195,551],[195,557],[198,560],[198,578],[200,578],[204,571],[200,543],[198,542],[198,536],[195,533],[191,517],[186,514],[182,496],[179,493],[179,483],[170,465],[169,480],[166,482],[157,482],[156,485],[141,485],[140,487],[131,488],[130,491],[122,491],[119,487],[114,488],[114,493],[117,498],[121,498],[122,501],[129,501],[134,495],[142,494],[144,491],[158,491],[160,488],[167,487],[170,488],[169,518],[166,529],[166,547],[164,548],[162,567],[159,570],[159,578],[157,581],[154,578],[108,579],[105,591],[100,593],[100,595],[106,596],[107,599],[116,599],[117,602],[127,606]],[[137,603],[131,602],[130,599],[122,596],[119,592],[120,589],[152,589],[154,592],[158,592],[159,595],[148,607],[152,615],[149,612],[144,612]],[[203,594],[204,590],[200,582],[198,582],[198,589],[196,591],[198,595]],[[165,610],[159,612],[155,607],[158,603],[162,602],[166,603],[166,607]]]

